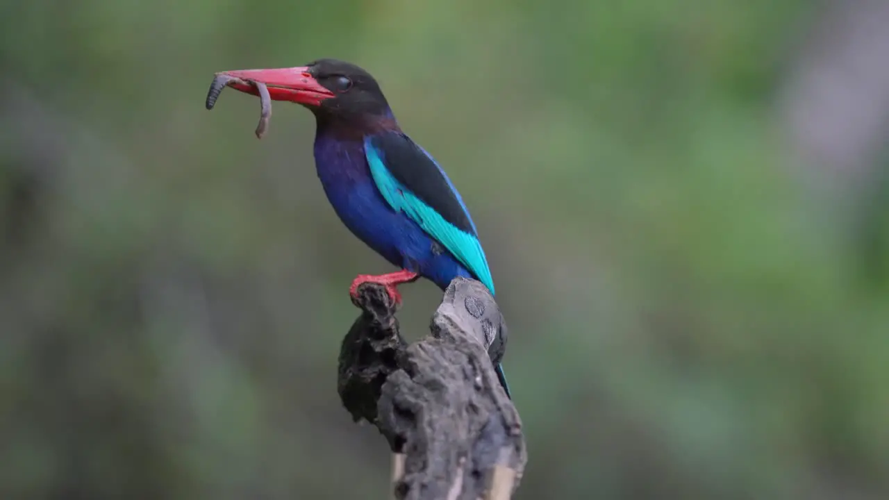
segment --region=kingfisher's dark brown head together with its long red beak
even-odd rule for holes
[[[319,119],[391,117],[377,81],[364,69],[342,60],[321,59],[294,68],[240,69],[218,75],[263,83],[272,101],[296,102]],[[244,82],[233,81],[228,86],[257,93],[254,86]]]

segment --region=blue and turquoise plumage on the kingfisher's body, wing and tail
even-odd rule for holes
[[[391,133],[384,132],[382,136],[388,137]],[[404,158],[404,154],[387,151],[382,146],[387,141],[380,141],[380,135],[368,135],[358,142],[341,141],[320,131],[316,134],[318,179],[333,210],[348,230],[393,265],[419,273],[442,290],[453,278],[461,276],[481,281],[494,294],[485,251],[459,192],[424,149],[403,133],[396,134],[400,138],[397,141],[404,141],[405,148],[415,148],[421,155],[414,157],[418,163],[409,167],[428,170],[428,165],[432,165],[445,181],[447,193],[438,194],[445,195],[445,199],[453,197],[459,203],[465,217],[463,229],[446,221],[435,208],[396,179],[386,158]],[[509,395],[506,375],[499,362],[495,371]]]

